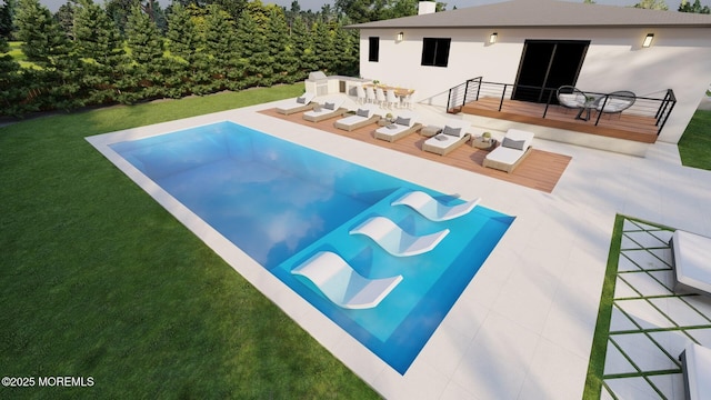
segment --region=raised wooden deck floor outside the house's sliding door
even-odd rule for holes
[[[545,104],[504,100],[501,111],[499,111],[500,101],[501,99],[498,98],[481,98],[478,101],[464,104],[461,111],[473,116],[633,140],[643,143],[654,143],[657,141],[659,127],[655,126],[657,120],[652,117],[643,117],[629,112],[603,114],[598,126],[595,126],[598,118],[595,110],[591,111],[590,120],[582,121],[575,119],[578,110],[567,109],[560,106],[549,106],[545,118],[542,118]]]

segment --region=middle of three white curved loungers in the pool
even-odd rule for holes
[[[350,233],[369,237],[392,256],[409,257],[434,249],[449,233],[449,229],[424,236],[412,236],[388,218],[372,217]]]

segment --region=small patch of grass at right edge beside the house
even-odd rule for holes
[[[711,170],[711,111],[697,110],[679,141],[681,162]]]

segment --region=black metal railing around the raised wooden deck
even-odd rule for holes
[[[464,83],[449,90],[447,110],[450,112],[459,112],[464,104],[485,97],[499,99],[498,111],[502,110],[504,100],[524,100],[540,103],[544,106],[541,118],[545,118],[549,107],[558,104],[557,91],[558,88],[487,82],[482,77],[478,77],[469,79]],[[604,109],[605,104],[611,100],[611,96],[614,96],[612,93],[592,91],[583,92],[587,96],[593,97],[595,104],[600,104],[600,109]],[[635,96],[633,104],[629,109],[625,109],[624,112],[642,117],[653,117],[657,121],[657,134],[659,136],[675,104],[677,97],[674,96],[674,91],[667,89],[664,90],[664,96],[661,98]],[[605,112],[597,113],[594,126],[599,124],[603,113]]]

